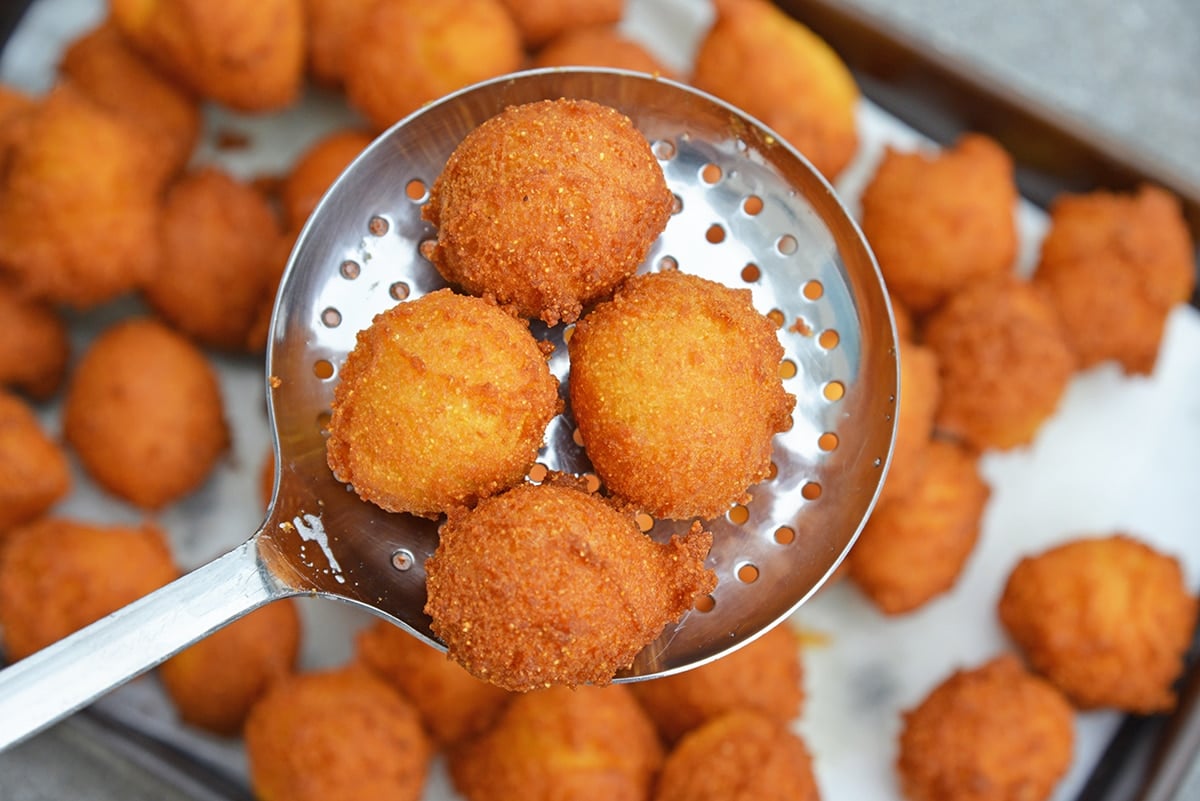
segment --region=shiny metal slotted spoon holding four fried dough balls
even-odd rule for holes
[[[383,134],[300,235],[268,354],[277,466],[263,526],[228,554],[0,671],[0,747],[286,596],[348,601],[442,648],[424,613],[437,524],[383,512],[335,481],[323,429],[358,331],[396,302],[444,285],[421,255],[434,231],[420,210],[450,152],[505,107],[559,97],[614,107],[652,143],[678,207],[642,269],[750,289],[779,325],[781,374],[797,397],[791,429],[775,438],[772,477],[751,488],[749,504],[708,523],[718,589],[617,680],[676,673],[744,645],[829,577],[875,504],[898,402],[892,312],[850,215],[794,150],[708,95],[611,70],[508,76]],[[554,343],[551,368],[565,381],[563,327],[533,331]],[[535,470],[590,471],[574,434],[568,409],[551,423]],[[655,538],[686,526],[646,520]]]

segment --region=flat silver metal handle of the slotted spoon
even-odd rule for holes
[[[0,670],[0,751],[286,595],[258,537]]]

